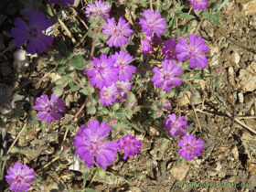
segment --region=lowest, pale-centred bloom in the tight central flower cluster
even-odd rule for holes
[[[101,97],[99,100],[101,100],[101,105],[104,106],[106,104],[107,106],[112,105],[112,103],[116,100],[115,96],[119,94],[119,91],[117,90],[116,84],[113,82],[112,85],[108,88],[105,86],[101,90]]]

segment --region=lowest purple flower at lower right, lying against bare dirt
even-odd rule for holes
[[[194,159],[194,155],[201,155],[200,152],[204,151],[205,148],[204,141],[201,139],[197,139],[196,141],[195,135],[184,135],[177,145],[183,146],[183,148],[177,150],[177,153],[189,161]]]

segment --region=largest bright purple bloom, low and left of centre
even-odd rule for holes
[[[118,143],[104,141],[111,131],[107,123],[102,122],[100,125],[97,120],[91,120],[88,125],[82,124],[78,131],[79,136],[74,137],[74,146],[78,148],[75,154],[79,155],[89,168],[94,164],[95,155],[97,164],[106,169],[107,163],[112,165],[115,160]]]

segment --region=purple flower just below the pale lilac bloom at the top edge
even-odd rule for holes
[[[114,17],[108,18],[106,24],[103,26],[102,33],[111,36],[107,41],[109,47],[121,48],[129,43],[127,37],[132,36],[133,30],[130,29],[130,23],[125,23],[125,20],[121,16],[117,26]]]

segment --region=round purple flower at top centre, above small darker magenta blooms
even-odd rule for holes
[[[148,37],[152,37],[153,31],[157,37],[163,35],[165,31],[165,18],[161,18],[161,14],[159,14],[155,10],[145,10],[143,13],[144,18],[140,18],[139,24],[142,25],[142,31],[145,32],[145,35]]]

